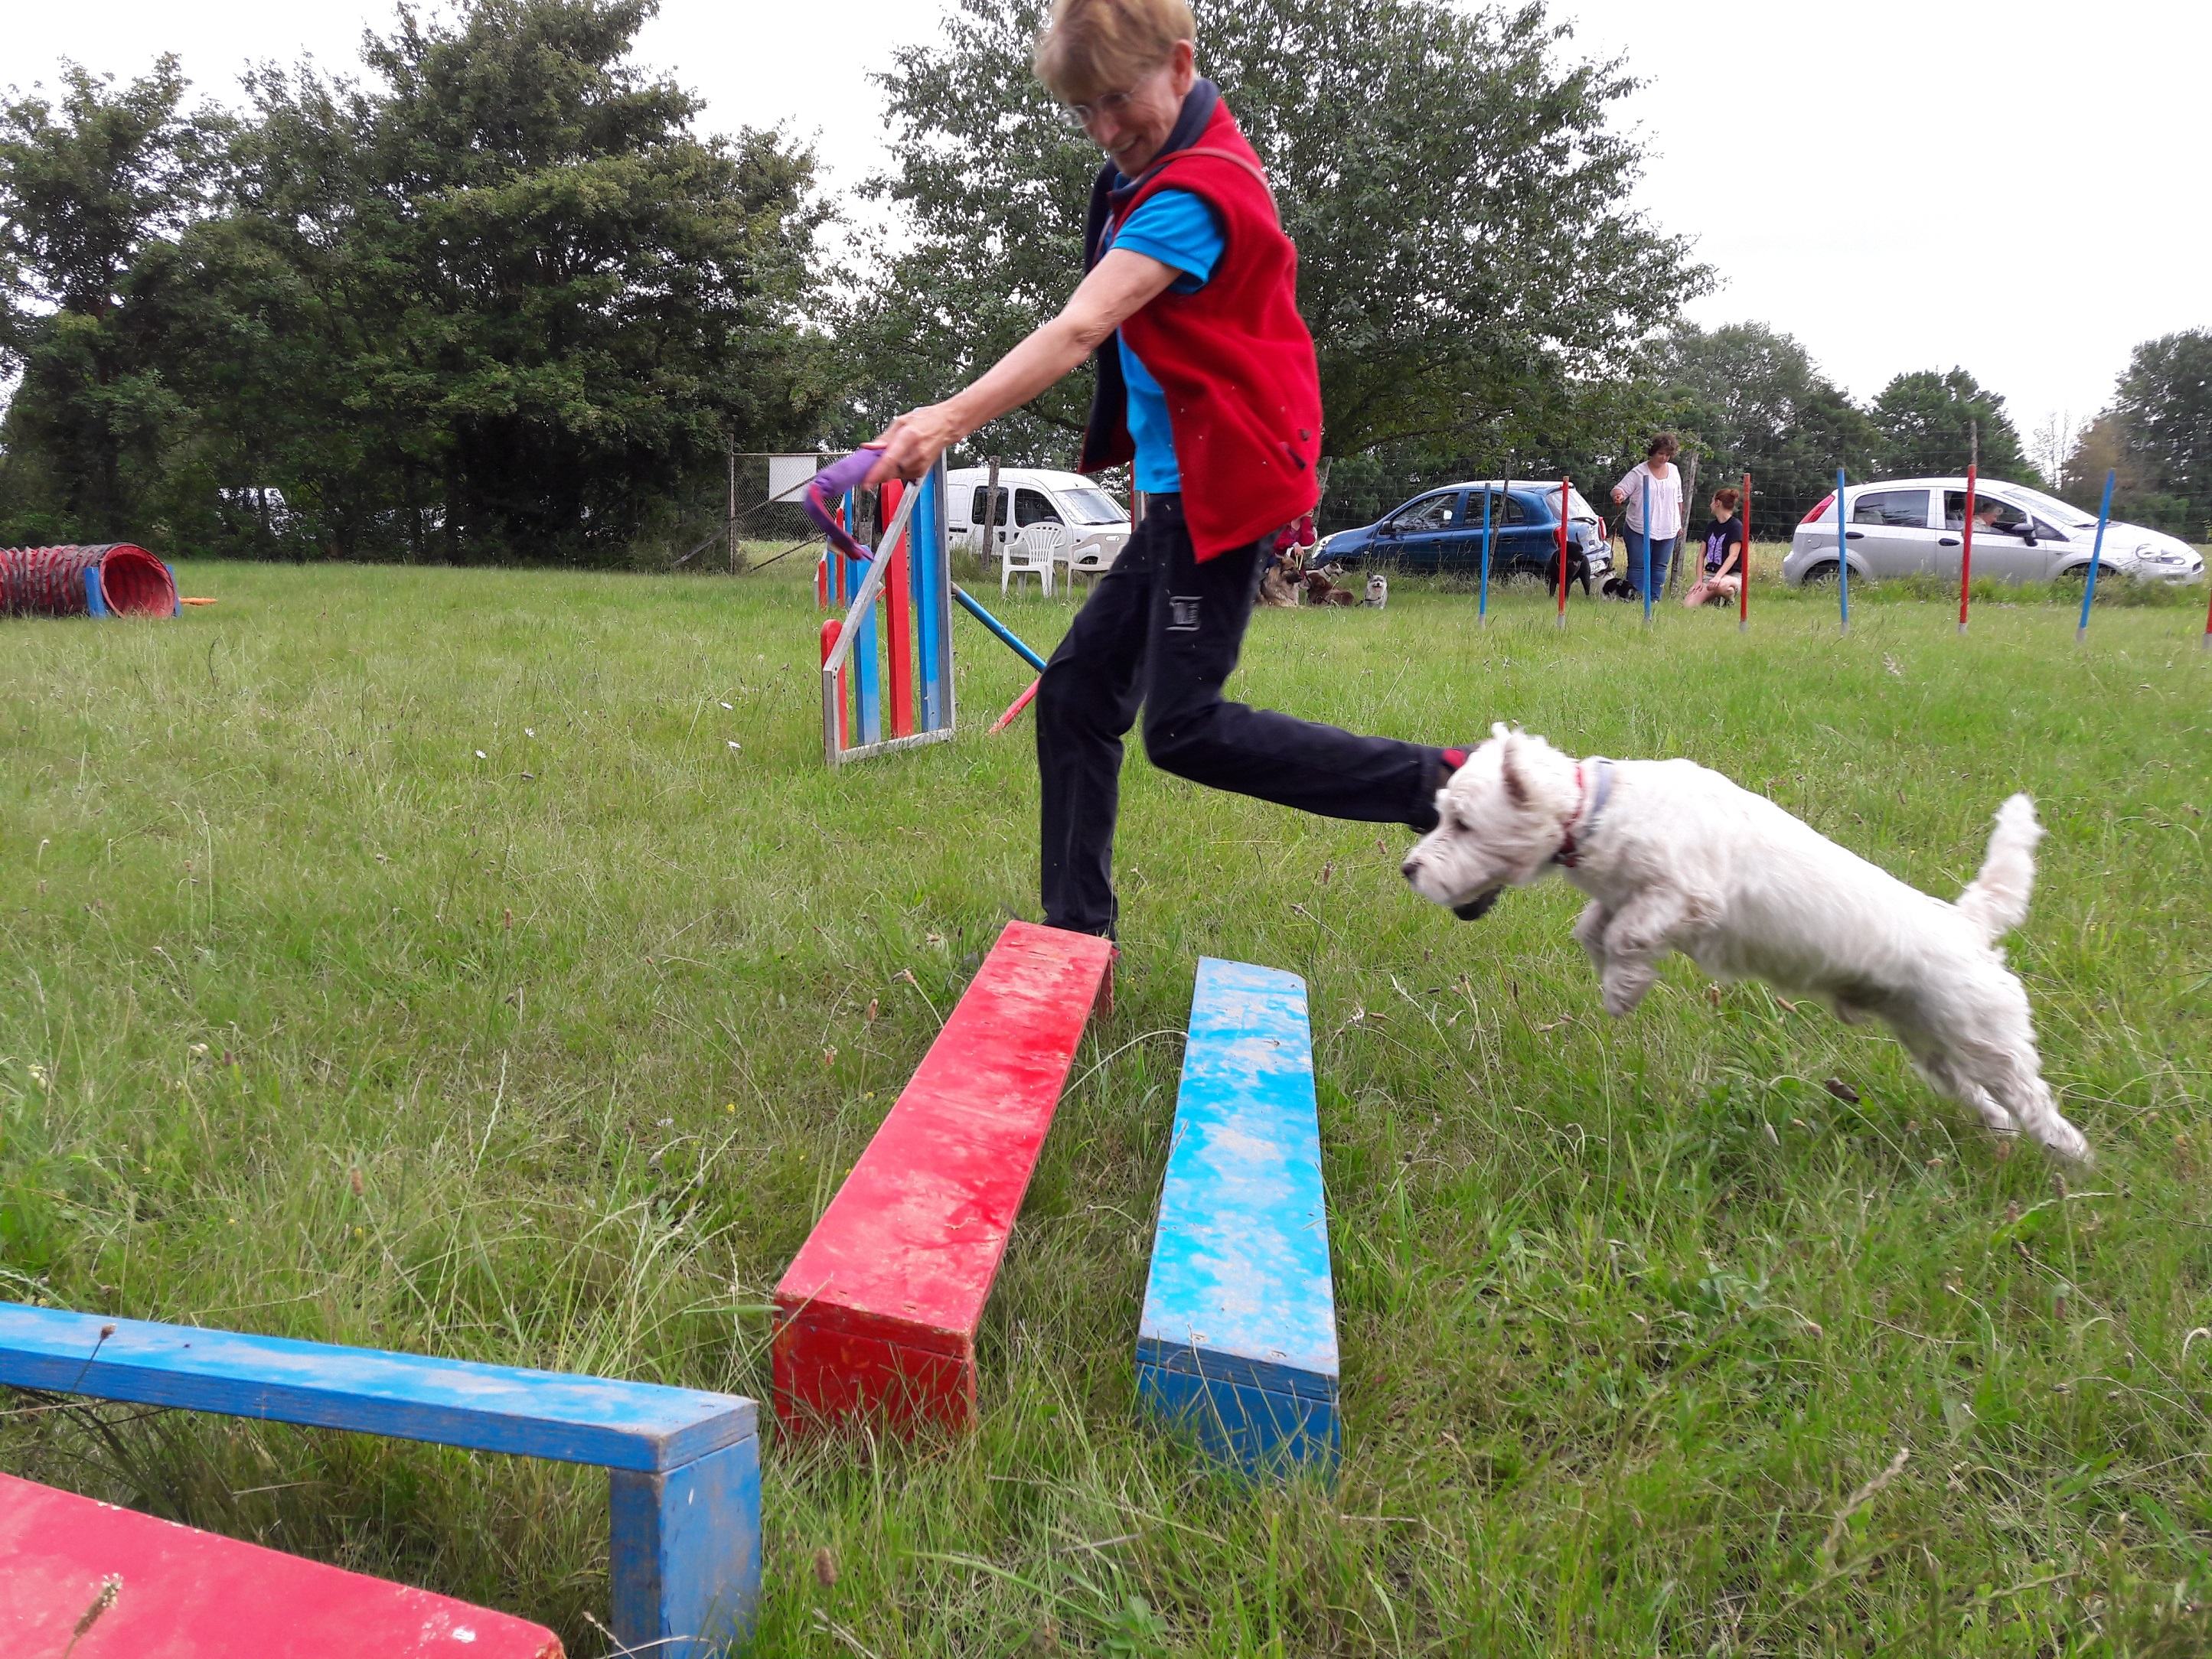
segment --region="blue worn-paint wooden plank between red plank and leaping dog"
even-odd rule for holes
[[[1137,1391],[1248,1469],[1336,1462],[1336,1292],[1305,980],[1199,960]]]

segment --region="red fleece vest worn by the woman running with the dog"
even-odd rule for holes
[[[1298,316],[1298,250],[1228,104],[1214,104],[1192,148],[1164,155],[1139,177],[1115,221],[1155,190],[1203,197],[1225,243],[1199,292],[1164,292],[1121,323],[1128,347],[1168,394],[1183,522],[1203,562],[1314,511],[1321,369]],[[1135,453],[1124,398],[1106,431],[1086,440],[1079,471],[1119,467]]]

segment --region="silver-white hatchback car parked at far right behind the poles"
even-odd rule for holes
[[[1975,480],[1973,573],[2000,582],[2081,580],[2097,546],[2097,515],[2026,484],[1997,478]],[[1986,518],[1995,509],[1995,518]],[[1931,575],[1958,577],[1964,553],[1966,480],[1898,478],[1882,484],[1851,484],[1843,493],[1845,557],[1851,577]],[[2205,573],[2203,555],[2188,542],[2141,524],[2106,524],[2104,575],[2139,582],[2194,582]],[[1836,580],[1836,495],[1814,507],[1790,538],[1783,582]]]

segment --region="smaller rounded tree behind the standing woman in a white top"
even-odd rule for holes
[[[1763,323],[1683,325],[1655,352],[1661,418],[1714,487],[1752,473],[1752,533],[1790,535],[1836,487],[1878,476],[1880,429],[1792,336]]]

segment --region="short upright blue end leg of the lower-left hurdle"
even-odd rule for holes
[[[761,1442],[608,1484],[615,1641],[706,1659],[743,1641],[761,1599]]]

